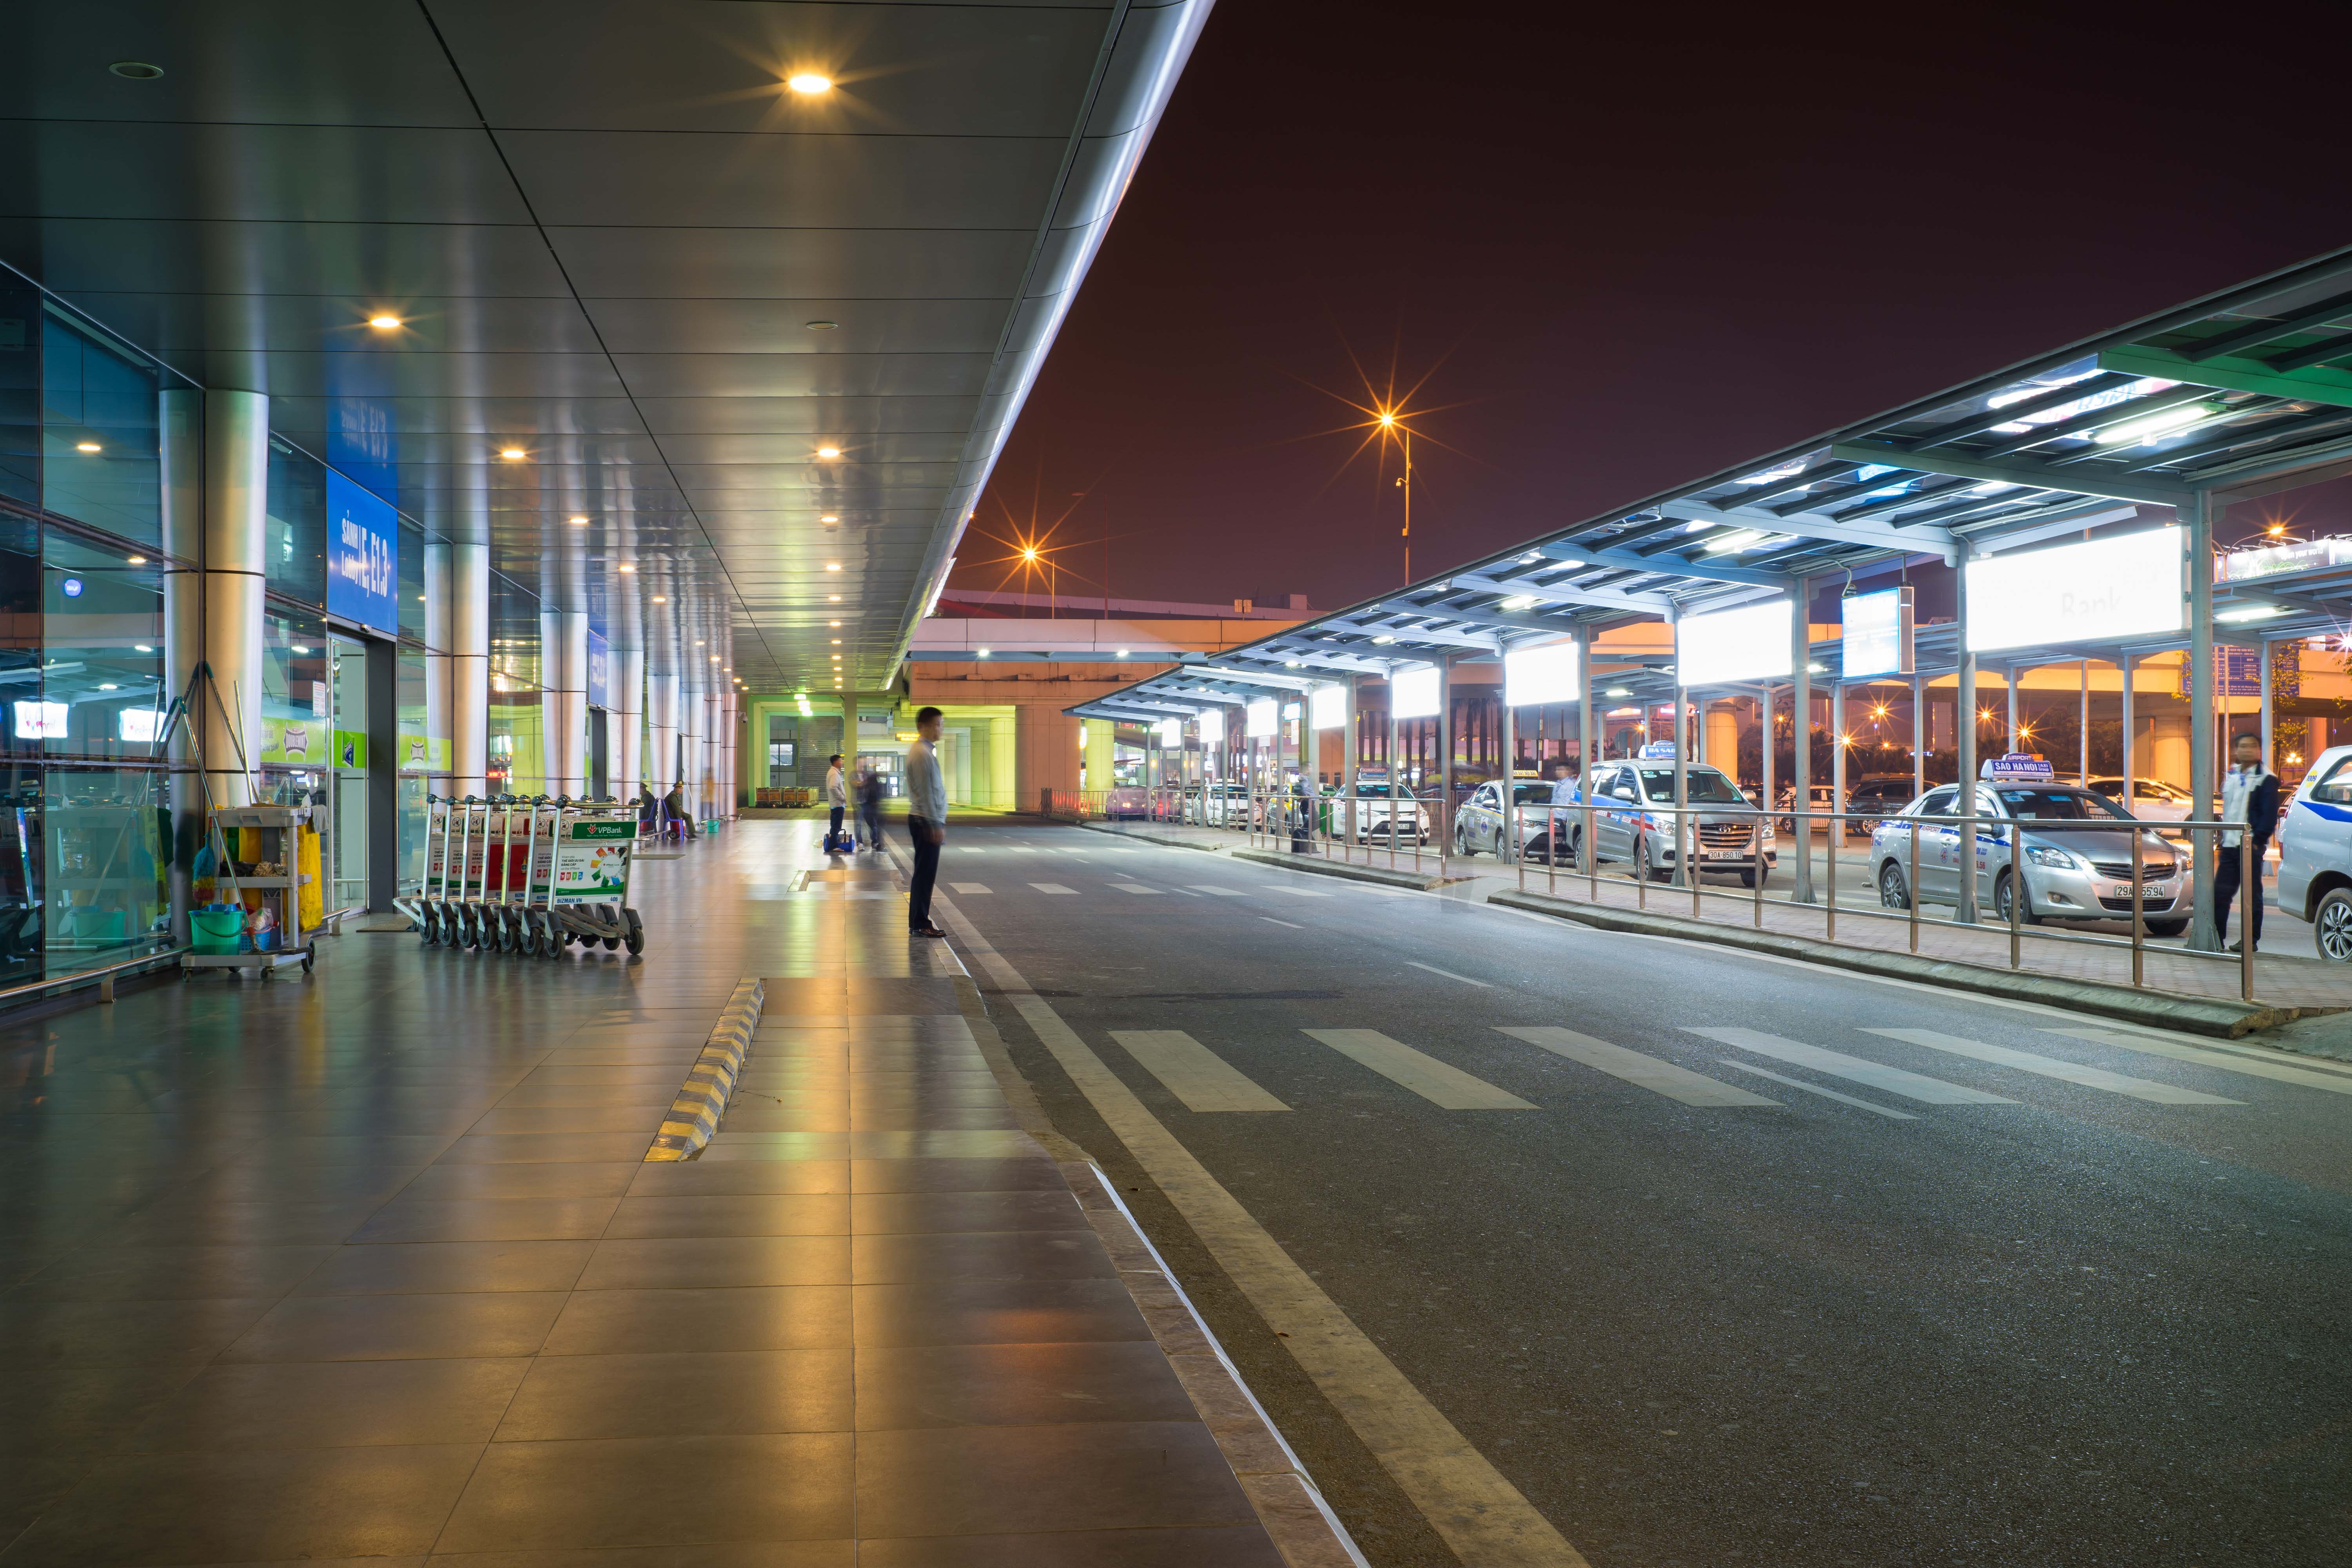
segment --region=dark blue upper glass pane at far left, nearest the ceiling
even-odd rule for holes
[[[143,360],[42,315],[42,505],[153,545],[162,538],[160,374]]]

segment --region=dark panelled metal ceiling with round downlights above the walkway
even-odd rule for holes
[[[875,689],[1209,5],[28,7],[0,261],[614,646]]]

